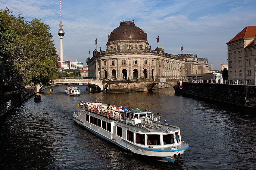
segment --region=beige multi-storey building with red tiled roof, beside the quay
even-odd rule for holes
[[[227,42],[228,79],[254,83],[256,26],[247,26]]]

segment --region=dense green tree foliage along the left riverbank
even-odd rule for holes
[[[0,10],[0,92],[5,85],[49,85],[59,59],[49,25],[11,13]]]

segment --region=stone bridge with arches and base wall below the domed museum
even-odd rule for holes
[[[154,81],[155,80],[155,81]],[[37,86],[36,91],[40,92],[48,87],[57,85],[67,85],[72,83],[88,83],[88,86],[96,88],[98,91],[105,91],[108,93],[127,93],[132,91],[148,91],[159,83],[164,84],[162,87],[173,87],[179,82],[179,79],[134,79],[134,80],[94,80],[94,79],[82,79],[82,78],[67,78],[67,79],[55,79],[50,86]]]

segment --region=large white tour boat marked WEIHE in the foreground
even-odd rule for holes
[[[82,102],[83,103],[83,102]],[[189,145],[181,141],[180,128],[161,122],[149,110],[103,110],[102,103],[77,104],[73,120],[97,136],[136,154],[174,161]],[[98,109],[98,106],[103,109]]]

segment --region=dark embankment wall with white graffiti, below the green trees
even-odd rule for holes
[[[4,102],[0,103],[0,116],[20,104],[23,100],[26,100],[28,97],[35,94],[35,90],[31,89],[28,91],[24,91],[23,93],[14,95],[12,98],[7,99]]]

